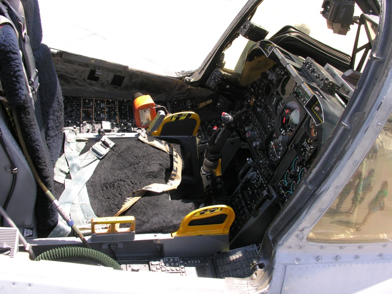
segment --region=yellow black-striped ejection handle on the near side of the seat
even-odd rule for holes
[[[227,205],[199,208],[181,221],[172,237],[228,234],[234,218],[234,210]]]

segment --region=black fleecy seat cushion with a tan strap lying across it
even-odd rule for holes
[[[137,139],[113,141],[116,146],[99,162],[86,184],[98,217],[114,216],[130,193],[152,183],[165,184],[172,171],[168,153]],[[89,142],[82,153],[95,143]],[[194,202],[171,200],[168,192],[147,192],[125,215],[135,217],[136,233],[170,233],[196,208]]]

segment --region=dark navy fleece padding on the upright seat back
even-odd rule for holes
[[[44,184],[53,190],[53,168],[61,150],[63,98],[50,50],[41,44],[42,28],[37,0],[23,0],[27,31],[38,69],[37,101],[28,95],[16,35],[10,25],[0,27],[0,80],[11,108],[18,115],[23,137]],[[39,237],[57,224],[57,213],[41,189],[35,205]],[[29,195],[26,195],[28,197]]]

